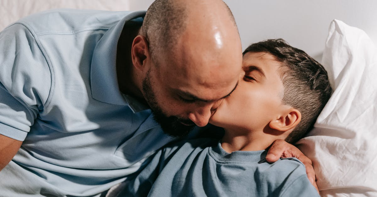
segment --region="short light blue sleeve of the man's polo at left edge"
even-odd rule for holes
[[[23,141],[51,88],[47,59],[26,25],[0,32],[0,69],[0,134]]]

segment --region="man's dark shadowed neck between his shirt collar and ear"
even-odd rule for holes
[[[123,94],[132,95],[141,102],[146,103],[140,90],[141,82],[133,68],[131,49],[133,39],[138,35],[140,24],[127,21],[118,40],[116,52],[116,74],[120,91]]]

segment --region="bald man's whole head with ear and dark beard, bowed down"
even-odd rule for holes
[[[156,0],[133,40],[132,61],[155,120],[184,135],[207,125],[237,86],[241,40],[222,0]]]

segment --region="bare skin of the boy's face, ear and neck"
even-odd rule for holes
[[[224,99],[210,119],[225,130],[222,146],[227,152],[267,149],[287,138],[300,122],[301,113],[282,104],[284,86],[280,62],[265,52],[248,52],[237,89]]]

